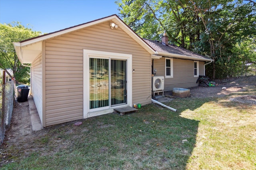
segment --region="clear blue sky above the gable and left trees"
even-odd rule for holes
[[[0,0],[0,23],[50,33],[118,14],[117,0]],[[29,24],[29,25],[27,25]]]

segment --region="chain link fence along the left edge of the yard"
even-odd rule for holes
[[[10,127],[14,104],[15,81],[0,84],[0,145],[4,141],[6,130]]]

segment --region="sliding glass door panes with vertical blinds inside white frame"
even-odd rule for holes
[[[127,104],[126,60],[90,58],[90,109]]]

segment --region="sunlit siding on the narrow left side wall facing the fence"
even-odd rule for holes
[[[31,91],[38,111],[38,115],[42,122],[42,55],[38,56],[32,63],[31,68]]]

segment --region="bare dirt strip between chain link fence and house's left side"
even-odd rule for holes
[[[11,126],[0,147],[0,166],[39,150],[41,147],[34,145],[33,141],[42,137],[43,133],[44,131],[32,131],[28,101],[14,104]]]

